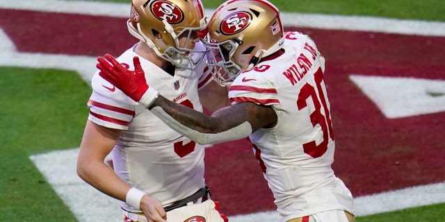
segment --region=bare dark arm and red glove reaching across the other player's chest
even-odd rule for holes
[[[147,85],[145,73],[140,66],[138,57],[133,58],[134,71],[130,71],[120,65],[120,63],[110,55],[106,55],[105,58],[106,59],[99,57],[97,59],[99,61],[97,68],[101,70],[99,75],[101,75],[102,78],[105,78],[108,82],[115,85],[115,87],[121,89],[122,92],[130,96],[134,101],[140,103],[144,96],[143,103],[141,104],[148,107],[149,110],[159,106],[183,126],[199,133],[215,134],[225,132],[236,126],[241,126],[245,121],[250,123],[252,130],[248,133],[251,133],[259,128],[273,127],[277,123],[277,114],[270,106],[248,102],[225,106],[229,104],[227,94],[223,100],[215,99],[216,101],[227,101],[227,103],[224,103],[224,105],[221,104],[219,110],[215,108],[211,117],[187,108],[184,105],[169,101],[161,95],[155,97],[156,90],[149,88],[149,85]],[[111,62],[111,64],[106,60]],[[235,131],[234,133],[239,132]]]

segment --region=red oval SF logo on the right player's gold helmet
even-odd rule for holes
[[[234,35],[247,28],[252,21],[252,15],[248,12],[234,12],[225,17],[220,25],[221,32],[225,35]]]

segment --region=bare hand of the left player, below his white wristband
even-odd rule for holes
[[[144,196],[140,201],[140,210],[147,217],[147,222],[166,222],[167,213],[158,199],[150,196]]]

